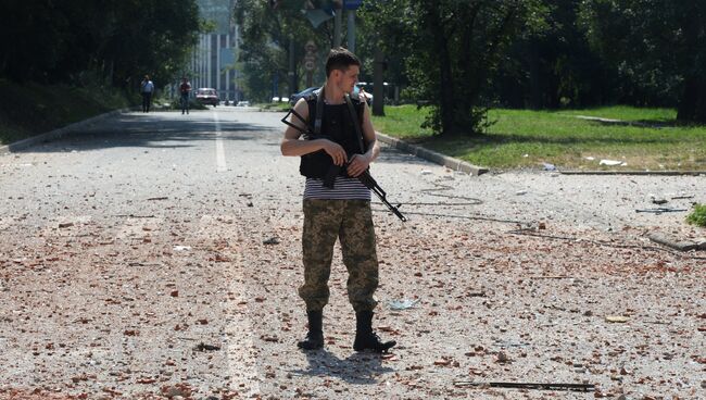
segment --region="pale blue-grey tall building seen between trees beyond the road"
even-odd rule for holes
[[[238,29],[232,17],[235,0],[197,0],[200,16],[215,24],[215,32],[199,35],[186,74],[191,87],[218,90],[220,100],[239,101],[242,93],[236,84],[235,70]]]

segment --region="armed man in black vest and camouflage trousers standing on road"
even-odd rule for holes
[[[304,187],[304,228],[302,261],[304,284],[299,295],[306,304],[308,333],[298,342],[304,350],[324,347],[323,311],[328,303],[328,278],[333,245],[340,240],[348,270],[348,296],[356,317],[355,351],[384,352],[396,345],[382,341],[373,330],[377,301],[378,260],[375,227],[370,211],[370,190],[355,177],[377,159],[380,147],[364,100],[353,93],[361,61],[343,48],[332,49],[326,61],[326,84],[294,104],[315,134],[325,136],[302,140],[301,132],[288,127],[281,142],[283,155],[301,157]],[[292,117],[295,126],[303,122]],[[363,137],[356,134],[360,124]],[[333,165],[341,167],[333,185],[324,177]],[[331,187],[332,186],[332,187]]]

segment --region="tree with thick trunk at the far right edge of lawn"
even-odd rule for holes
[[[678,120],[706,123],[706,2],[585,0],[582,22],[625,82],[621,100],[677,103]]]

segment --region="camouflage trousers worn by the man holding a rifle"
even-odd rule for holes
[[[349,301],[356,312],[371,311],[377,305],[373,293],[378,287],[378,258],[370,202],[366,200],[304,199],[304,285],[299,296],[310,311],[320,311],[328,303],[337,238],[349,275]]]

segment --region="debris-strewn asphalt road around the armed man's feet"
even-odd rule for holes
[[[303,178],[279,153],[281,116],[128,113],[1,155],[0,398],[474,398],[453,386],[471,378],[703,395],[703,258],[644,238],[703,230],[685,212],[635,212],[651,195],[703,202],[703,176],[470,177],[386,148],[373,174],[409,222],[374,204],[379,297],[417,305],[381,307],[377,325],[402,345],[351,354],[337,259],[330,351],[302,355]],[[633,347],[630,332],[658,339]]]

